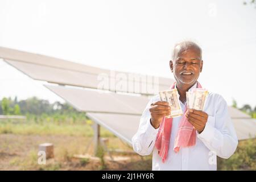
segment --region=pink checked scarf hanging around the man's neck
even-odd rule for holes
[[[171,89],[174,89],[176,82],[171,86]],[[202,88],[202,86],[197,82],[197,88]],[[196,144],[196,130],[193,128],[191,123],[188,122],[185,117],[187,111],[187,104],[185,105],[185,111],[182,115],[182,118],[179,122],[179,127],[177,131],[177,136],[174,143],[174,151],[179,152],[180,147],[191,147]],[[158,150],[159,156],[162,158],[164,163],[167,158],[170,136],[172,130],[172,118],[163,118],[163,121],[160,123],[160,128],[158,135],[156,136],[155,147]]]

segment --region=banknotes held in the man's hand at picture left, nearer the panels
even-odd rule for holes
[[[183,114],[180,107],[177,89],[159,92],[159,96],[161,101],[168,102],[171,107],[171,114],[168,115],[166,118],[175,118]]]

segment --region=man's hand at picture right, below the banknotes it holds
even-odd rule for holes
[[[204,131],[205,124],[207,123],[208,114],[201,110],[189,109],[185,114],[188,118],[188,122],[193,125],[198,133]]]

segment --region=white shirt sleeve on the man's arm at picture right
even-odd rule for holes
[[[228,105],[221,96],[214,117],[208,116],[203,132],[197,133],[197,137],[220,158],[228,159],[236,151],[238,144],[236,131],[228,113]]]

